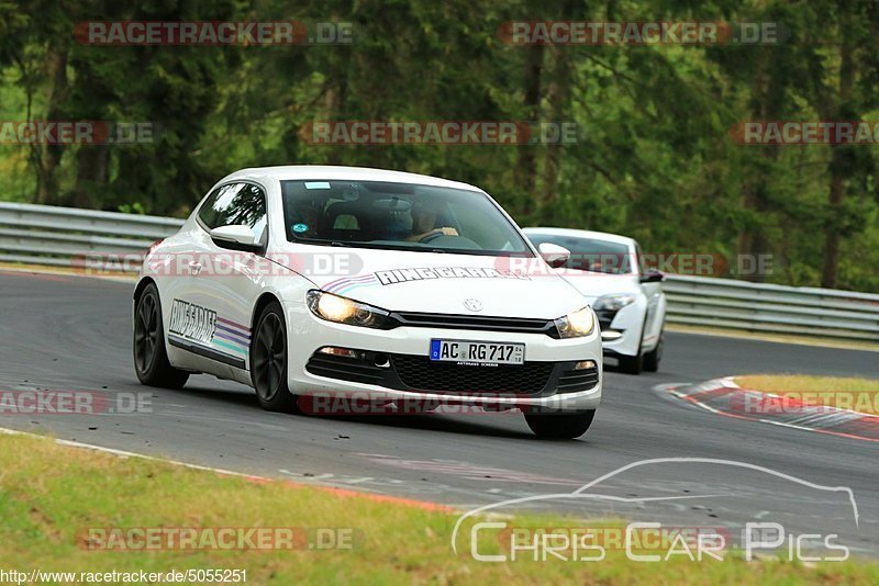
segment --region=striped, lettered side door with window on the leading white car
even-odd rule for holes
[[[262,291],[265,258],[214,239],[210,232],[244,225],[265,248],[266,203],[266,190],[251,181],[220,185],[204,200],[190,239],[192,275],[173,301],[169,341],[174,343],[174,334],[183,337],[188,352],[210,361],[202,369],[223,377],[241,380],[248,369],[251,316]]]

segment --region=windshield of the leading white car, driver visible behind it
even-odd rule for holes
[[[287,237],[294,243],[533,256],[485,194],[382,181],[281,181]]]

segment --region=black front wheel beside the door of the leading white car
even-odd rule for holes
[[[299,413],[297,397],[287,386],[287,323],[278,302],[268,304],[256,323],[251,345],[251,380],[264,409]]]

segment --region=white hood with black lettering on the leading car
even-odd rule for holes
[[[554,319],[587,305],[541,259],[308,245],[274,258],[318,289],[389,311]]]

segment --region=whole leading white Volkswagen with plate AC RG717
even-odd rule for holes
[[[244,169],[148,251],[134,291],[142,383],[192,372],[269,410],[320,393],[518,407],[574,438],[601,399],[594,312],[559,266],[472,185],[377,169]],[[479,412],[480,409],[474,409]]]

